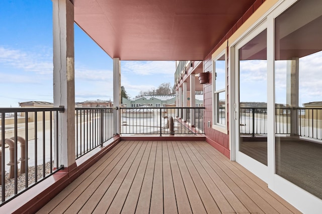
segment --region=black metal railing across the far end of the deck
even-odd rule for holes
[[[204,134],[204,108],[120,108],[121,134]],[[174,121],[174,133],[169,126]]]

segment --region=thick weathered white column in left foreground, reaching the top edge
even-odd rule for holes
[[[53,93],[58,113],[58,165],[75,167],[74,6],[69,0],[53,0]],[[55,121],[55,124],[57,121]],[[56,157],[56,156],[55,156]],[[57,160],[55,160],[57,161]]]

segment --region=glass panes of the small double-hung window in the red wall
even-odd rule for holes
[[[213,125],[226,128],[225,51],[221,52],[219,56],[213,60],[213,91]]]

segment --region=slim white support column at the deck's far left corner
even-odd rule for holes
[[[121,64],[120,58],[113,59],[113,107],[120,107],[121,105]],[[120,134],[121,116],[120,110],[117,111],[117,134]]]

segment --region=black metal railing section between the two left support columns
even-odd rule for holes
[[[75,108],[76,159],[117,135],[116,108]]]

